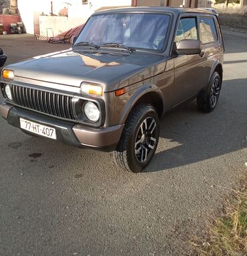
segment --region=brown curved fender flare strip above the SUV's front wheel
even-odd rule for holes
[[[132,108],[134,107],[134,105],[146,94],[149,94],[150,92],[155,92],[157,94],[157,96],[162,100],[162,107],[163,107],[163,111],[162,111],[162,115],[164,115],[164,96],[160,90],[160,88],[158,88],[156,85],[154,84],[147,84],[145,86],[141,86],[140,88],[138,88],[138,90],[136,90],[136,92],[134,92],[134,94],[132,94],[132,96],[130,97],[130,99],[128,100],[128,102],[126,103],[126,105],[123,107],[123,111],[122,111],[122,115],[119,119],[119,123],[123,124],[126,122],[126,119],[128,117],[128,115],[130,114],[130,111],[132,110]]]

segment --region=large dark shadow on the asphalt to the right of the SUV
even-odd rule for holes
[[[165,139],[161,143],[164,148],[158,147],[145,172],[185,166],[245,148],[247,109],[241,95],[247,94],[246,83],[247,79],[224,81],[218,106],[212,113],[200,113],[193,101],[164,117],[160,130],[160,140]],[[239,113],[241,119],[236,118]],[[174,146],[166,148],[166,141],[174,142]]]

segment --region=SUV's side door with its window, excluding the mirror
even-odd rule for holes
[[[178,20],[174,43],[181,40],[199,40],[198,15],[182,15]],[[175,90],[173,107],[186,101],[206,86],[202,54],[178,55],[174,58]]]

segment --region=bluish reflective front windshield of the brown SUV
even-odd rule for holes
[[[170,15],[157,13],[116,13],[92,16],[75,44],[122,44],[131,48],[162,50]]]

